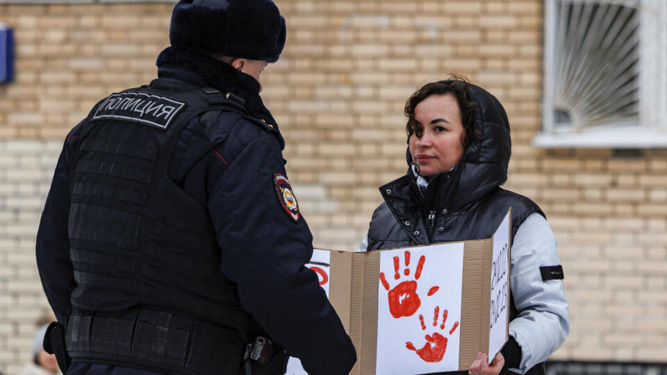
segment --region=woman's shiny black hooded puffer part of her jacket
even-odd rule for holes
[[[381,186],[384,202],[373,213],[368,250],[491,238],[509,208],[513,239],[529,215],[544,215],[530,199],[500,188],[507,180],[511,155],[504,108],[493,95],[475,85],[469,85],[468,94],[479,104],[475,110],[477,140],[454,169],[433,176],[425,190],[418,187],[412,169]],[[410,164],[409,150],[407,159]],[[513,319],[518,312],[511,304]],[[521,351],[513,338],[503,353],[510,368],[518,367]],[[528,373],[541,374],[543,366],[535,366]]]

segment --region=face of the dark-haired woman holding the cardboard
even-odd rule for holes
[[[415,108],[415,121],[424,129],[422,138],[410,136],[412,161],[425,177],[446,172],[463,156],[463,124],[459,103],[452,94],[431,95]]]

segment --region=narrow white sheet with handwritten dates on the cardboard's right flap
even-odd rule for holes
[[[491,266],[491,322],[488,327],[488,363],[507,341],[507,293],[509,286],[509,213],[493,235]]]

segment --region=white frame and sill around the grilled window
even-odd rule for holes
[[[667,0],[639,0],[639,123],[603,124],[572,131],[554,129],[551,74],[556,49],[557,1],[545,0],[543,128],[533,138],[543,148],[667,148]],[[626,5],[626,0],[594,1]]]

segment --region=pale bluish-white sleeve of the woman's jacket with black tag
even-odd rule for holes
[[[511,293],[519,314],[509,322],[509,334],[521,347],[521,363],[513,372],[525,374],[545,361],[570,332],[563,281],[543,281],[539,268],[556,265],[554,233],[542,215],[533,213],[519,226],[511,249]]]

